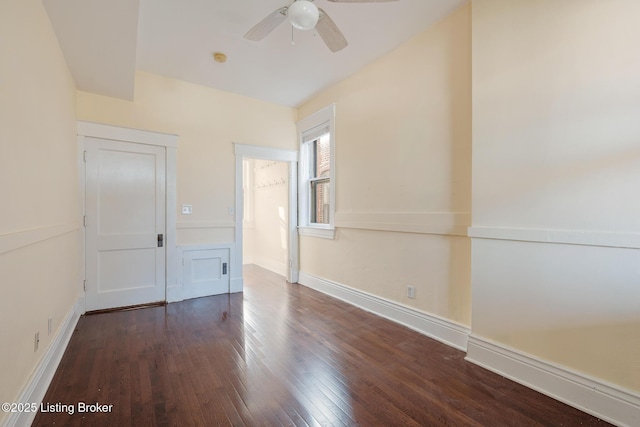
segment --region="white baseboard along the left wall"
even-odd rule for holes
[[[62,355],[67,349],[71,335],[78,323],[80,313],[82,312],[82,298],[78,298],[71,310],[67,313],[57,335],[51,341],[51,345],[47,349],[45,355],[40,359],[40,362],[36,366],[33,376],[29,379],[29,382],[20,393],[20,397],[16,402],[22,403],[37,403],[40,405],[44,395],[51,384],[53,375],[58,369]],[[5,419],[4,425],[6,427],[19,427],[30,426],[35,418],[34,412],[12,412]]]

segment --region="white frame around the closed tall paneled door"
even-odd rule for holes
[[[84,224],[85,210],[85,162],[84,152],[85,138],[100,138],[106,140],[129,142],[134,144],[155,145],[165,148],[165,228],[166,228],[166,251],[165,251],[165,298],[171,302],[178,294],[178,246],[176,240],[177,221],[177,199],[176,199],[176,168],[178,136],[152,132],[140,129],[124,128],[102,123],[77,121],[76,130],[78,135],[78,192],[79,192],[79,212],[81,222]],[[82,295],[82,313],[86,312],[86,228],[82,227],[80,237],[81,252],[81,275],[79,277],[79,288]]]

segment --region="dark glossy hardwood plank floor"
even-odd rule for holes
[[[34,426],[608,425],[254,266],[243,294],[81,317],[43,403],[74,413]]]

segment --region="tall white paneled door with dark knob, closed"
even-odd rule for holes
[[[85,139],[86,310],[166,300],[165,148]]]

